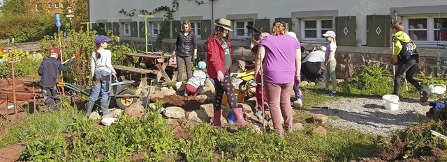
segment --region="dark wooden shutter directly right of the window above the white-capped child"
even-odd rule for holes
[[[357,17],[335,17],[335,29],[337,46],[357,45]]]

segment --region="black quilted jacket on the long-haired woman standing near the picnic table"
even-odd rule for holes
[[[175,42],[175,54],[181,57],[193,56],[194,49],[197,49],[196,34],[189,31],[185,36],[184,32],[180,31]]]

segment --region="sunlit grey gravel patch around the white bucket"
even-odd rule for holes
[[[324,102],[307,111],[329,117],[328,123],[342,129],[354,129],[374,135],[389,136],[397,129],[416,124],[425,119],[430,106],[421,106],[418,99],[400,99],[397,111],[388,111],[381,98],[341,98]]]

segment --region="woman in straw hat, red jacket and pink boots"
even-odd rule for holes
[[[219,22],[214,23],[216,28],[211,37],[207,40],[207,71],[211,79],[214,79],[214,88],[216,89],[216,97],[214,97],[214,120],[212,122],[215,126],[221,125],[222,116],[222,97],[223,92],[226,92],[228,103],[235,114],[235,124],[245,125],[247,122],[242,115],[242,108],[237,106],[237,99],[235,97],[235,88],[231,83],[231,44],[228,40],[228,31],[231,22],[228,19],[220,18]]]

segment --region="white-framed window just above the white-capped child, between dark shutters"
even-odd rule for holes
[[[324,40],[323,33],[332,30],[332,19],[304,19],[301,40]]]

